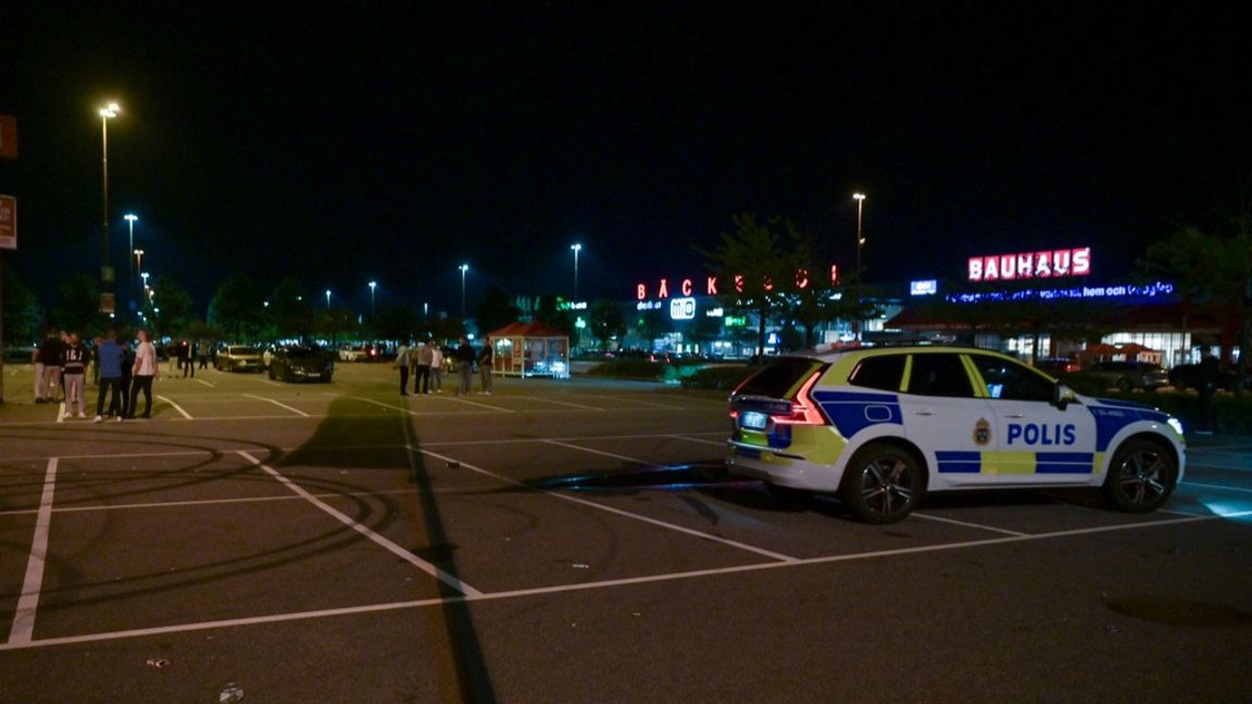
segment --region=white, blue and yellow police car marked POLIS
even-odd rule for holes
[[[1090,398],[975,348],[858,348],[780,357],[730,397],[731,474],[784,502],[838,494],[895,522],[928,491],[1093,487],[1147,512],[1182,481],[1182,423]]]

